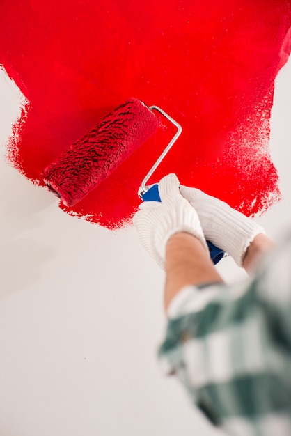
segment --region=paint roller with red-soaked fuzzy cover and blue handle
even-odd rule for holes
[[[177,128],[139,189],[143,201],[160,201],[158,185],[147,187],[146,183],[180,136],[182,127],[159,107],[148,107],[137,98],[129,98],[104,116],[100,123],[47,166],[42,173],[45,185],[68,207],[81,201],[157,130],[159,122],[154,111]],[[219,262],[224,252],[212,242],[207,241],[207,244],[212,261]]]

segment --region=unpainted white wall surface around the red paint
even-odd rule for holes
[[[216,435],[162,375],[164,276],[133,228],[70,217],[5,161],[19,93],[0,74],[0,436]],[[283,200],[260,222],[290,223],[291,62],[276,81],[274,162]],[[244,274],[230,259],[227,281]]]

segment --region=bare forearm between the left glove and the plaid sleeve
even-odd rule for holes
[[[165,310],[184,286],[203,283],[223,280],[200,240],[189,233],[176,233],[166,244]]]

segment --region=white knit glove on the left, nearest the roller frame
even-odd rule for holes
[[[159,182],[159,201],[141,203],[134,215],[134,226],[141,244],[164,268],[166,242],[179,232],[199,238],[209,253],[196,210],[179,192],[180,182],[175,174],[168,174]]]

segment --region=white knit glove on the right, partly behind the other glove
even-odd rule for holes
[[[233,257],[242,267],[246,250],[265,230],[241,212],[200,189],[180,185],[180,193],[195,208],[205,238]]]

